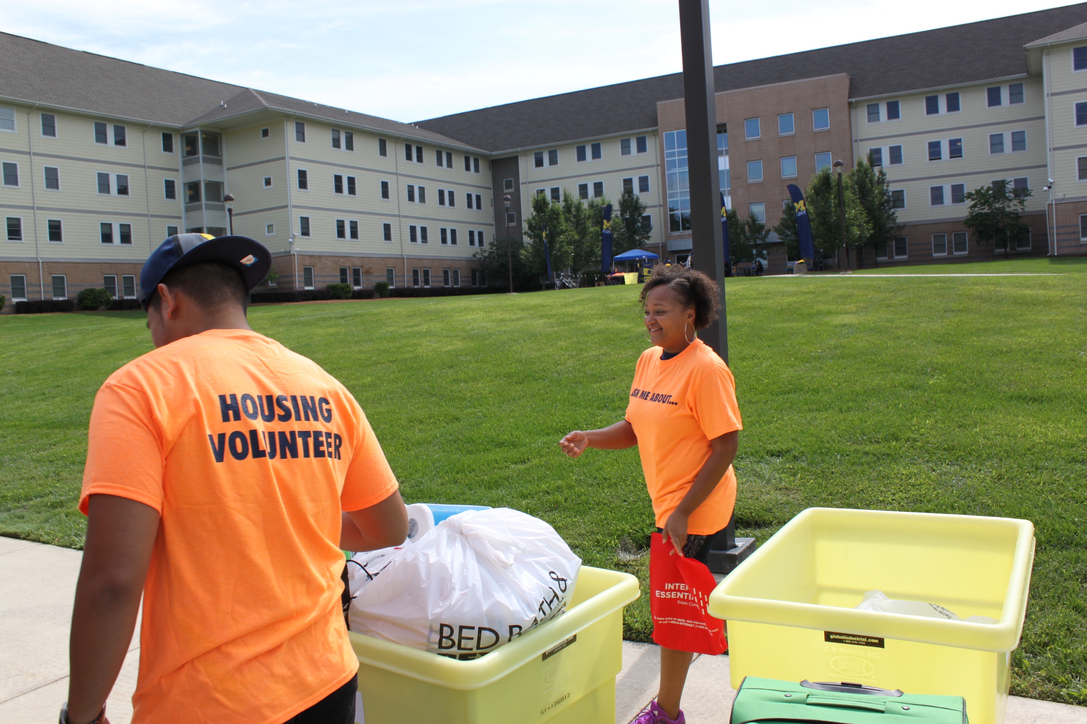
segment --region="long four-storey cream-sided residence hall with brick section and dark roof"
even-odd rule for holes
[[[649,249],[690,250],[680,74],[404,124],[7,34],[0,52],[8,309],[134,297],[168,234],[226,231],[226,194],[278,289],[486,283],[473,255],[520,236],[536,193],[632,189]],[[773,226],[788,183],[871,153],[903,224],[879,264],[1003,254],[962,226],[963,194],[995,179],[1034,193],[1011,253],[1087,253],[1087,3],[714,71],[721,186],[742,215]]]

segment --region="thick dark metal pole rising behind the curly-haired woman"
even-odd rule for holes
[[[698,333],[728,361],[725,317],[725,259],[721,238],[721,180],[717,177],[717,105],[710,46],[709,0],[679,0],[684,111],[687,117],[687,174],[690,183],[691,266],[717,282],[719,319]]]

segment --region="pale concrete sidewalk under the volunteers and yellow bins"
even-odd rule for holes
[[[0,724],[52,723],[67,698],[67,643],[79,573],[78,550],[0,537]],[[107,704],[112,724],[129,724],[139,626]],[[658,648],[623,643],[615,724],[627,724],[657,694]],[[690,724],[724,724],[736,691],[728,657],[698,657],[683,708]],[[1087,708],[1011,697],[1008,724],[1087,724]],[[409,723],[405,723],[409,724]],[[414,724],[414,723],[410,723]]]

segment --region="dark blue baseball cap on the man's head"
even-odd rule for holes
[[[200,262],[218,262],[238,270],[247,291],[253,291],[272,268],[272,253],[249,237],[212,237],[208,233],[178,233],[170,237],[143,263],[139,272],[139,303],[143,312],[159,283],[172,269]]]

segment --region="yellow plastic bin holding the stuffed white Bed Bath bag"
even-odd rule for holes
[[[623,607],[638,595],[633,575],[583,566],[564,614],[473,661],[352,633],[365,722],[614,724]]]

